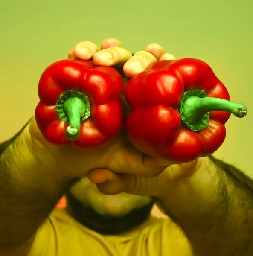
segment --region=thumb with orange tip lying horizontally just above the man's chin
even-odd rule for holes
[[[125,192],[133,195],[157,196],[162,182],[160,175],[143,177],[117,174],[108,169],[94,169],[88,173],[88,178],[91,182],[96,183],[99,191],[105,195],[116,195]]]

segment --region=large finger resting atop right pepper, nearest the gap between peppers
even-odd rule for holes
[[[146,70],[155,61],[157,58],[150,52],[139,51],[125,63],[123,71],[127,77],[131,77]]]

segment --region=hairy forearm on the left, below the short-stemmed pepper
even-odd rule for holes
[[[19,136],[1,145],[0,247],[28,241],[74,182],[57,177],[53,160],[45,152],[40,154],[36,145],[28,147],[29,140],[27,126]],[[38,157],[31,152],[35,150]]]

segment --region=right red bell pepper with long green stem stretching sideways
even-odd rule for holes
[[[204,61],[157,61],[125,87],[131,106],[125,126],[140,151],[173,163],[214,153],[226,136],[230,113],[243,117],[244,105],[229,93]]]

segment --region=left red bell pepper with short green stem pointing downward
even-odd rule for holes
[[[123,87],[113,67],[74,58],[53,63],[38,84],[35,118],[41,133],[52,144],[82,148],[112,140],[124,122]]]

